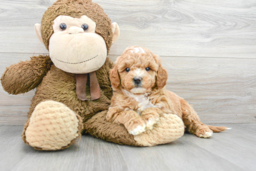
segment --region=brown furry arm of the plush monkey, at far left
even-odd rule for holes
[[[1,77],[3,89],[9,94],[28,92],[38,86],[50,69],[49,55],[33,56],[29,61],[7,67]]]

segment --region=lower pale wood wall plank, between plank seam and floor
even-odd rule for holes
[[[5,67],[31,54],[0,53]],[[116,55],[109,56],[115,61]],[[185,98],[204,123],[256,123],[256,60],[162,56],[168,71],[166,88]],[[35,90],[9,95],[0,86],[0,124],[24,124]]]

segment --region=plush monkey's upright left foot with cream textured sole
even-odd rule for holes
[[[69,147],[81,136],[82,119],[63,103],[39,103],[23,131],[26,144],[40,150],[60,150]]]

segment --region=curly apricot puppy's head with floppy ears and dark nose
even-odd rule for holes
[[[157,55],[142,47],[128,47],[116,60],[110,71],[113,90],[124,89],[130,93],[150,92],[152,88],[163,88],[167,82],[167,71]]]

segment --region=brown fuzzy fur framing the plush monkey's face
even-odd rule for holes
[[[91,18],[97,25],[95,33],[103,37],[106,42],[108,54],[113,37],[110,27],[111,20],[104,13],[101,6],[91,0],[57,0],[44,12],[41,21],[41,35],[47,50],[49,50],[49,40],[53,34],[53,20],[59,15],[68,15],[74,18],[87,15]]]

